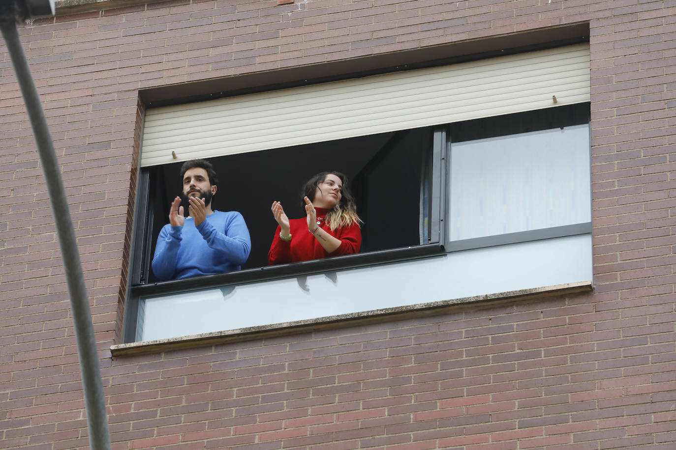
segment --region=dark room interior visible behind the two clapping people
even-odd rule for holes
[[[276,229],[270,212],[274,200],[287,215],[303,217],[300,190],[315,173],[340,171],[357,204],[362,224],[362,250],[370,252],[420,244],[420,180],[423,160],[431,151],[431,130],[420,128],[318,142],[260,152],[211,158],[218,174],[214,210],[241,213],[251,234],[251,255],[243,269],[268,265]],[[181,194],[182,163],[148,167],[152,213],[145,248],[149,258],[160,229],[168,223],[169,205]],[[146,282],[156,281],[149,271]]]

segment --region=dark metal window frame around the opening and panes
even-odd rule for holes
[[[587,126],[590,127],[589,116]],[[430,234],[428,244],[409,246],[406,248],[392,248],[377,250],[359,254],[335,256],[320,260],[294,262],[277,266],[262,266],[252,269],[243,269],[230,273],[205,275],[170,281],[158,281],[141,283],[145,271],[149,271],[152,255],[151,230],[153,228],[153,213],[149,208],[150,194],[150,170],[141,169],[138,184],[137,209],[135,211],[135,223],[143,223],[143,227],[135,227],[132,245],[132,270],[130,283],[128,284],[128,307],[125,314],[124,342],[136,342],[137,320],[139,314],[139,300],[150,296],[160,296],[168,293],[180,293],[208,289],[212,287],[225,287],[228,285],[242,285],[268,281],[339,271],[341,269],[354,269],[364,266],[374,266],[404,260],[429,258],[440,254],[487,248],[514,244],[518,242],[530,242],[546,240],[554,237],[589,234],[592,232],[592,223],[577,223],[505,233],[502,235],[489,235],[465,240],[451,241],[450,233],[446,232],[445,225],[450,223],[450,208],[447,208],[447,196],[450,195],[450,176],[452,136],[450,124],[431,127],[431,206],[430,206]],[[591,146],[589,146],[591,152]],[[589,154],[591,158],[591,153]],[[591,160],[590,160],[591,161]],[[591,183],[591,180],[589,180]],[[591,184],[589,185],[591,186]],[[138,256],[138,257],[137,257]]]

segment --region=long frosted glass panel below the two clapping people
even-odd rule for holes
[[[142,298],[139,341],[589,281],[592,236]]]

